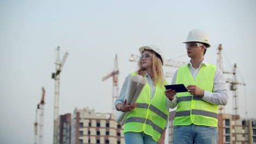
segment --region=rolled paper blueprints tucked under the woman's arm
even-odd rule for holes
[[[141,75],[131,76],[131,79],[127,85],[127,93],[125,99],[127,104],[131,105],[136,103],[139,94],[141,94],[142,89],[146,85],[147,80],[144,79]],[[126,117],[130,112],[119,112],[116,118],[116,121],[121,125],[124,125]]]

